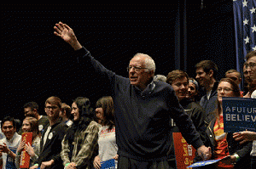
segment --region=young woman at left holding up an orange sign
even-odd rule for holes
[[[29,166],[34,166],[34,162],[38,160],[40,152],[41,132],[38,130],[38,120],[34,117],[26,116],[21,128],[22,132],[32,132],[32,145],[20,141],[15,158],[15,165],[17,168],[20,168],[20,154],[22,149],[26,149],[26,152],[30,155]]]

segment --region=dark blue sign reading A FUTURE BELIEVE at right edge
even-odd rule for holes
[[[256,132],[256,99],[222,98],[224,132]]]

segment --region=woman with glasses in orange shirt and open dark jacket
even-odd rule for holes
[[[233,133],[224,132],[224,117],[222,98],[240,97],[240,89],[236,82],[230,78],[223,78],[218,83],[218,108],[212,112],[213,118],[207,127],[206,145],[212,148],[212,160],[221,159],[230,155],[224,162],[204,168],[250,168],[250,151],[252,143],[239,144],[234,138]]]

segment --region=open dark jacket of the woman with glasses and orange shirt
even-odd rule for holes
[[[216,118],[214,117],[210,122],[209,126],[207,127],[207,139],[205,145],[208,147],[210,146],[212,149],[212,158],[214,159],[214,148],[215,148],[215,137],[213,133],[213,127],[215,124]],[[235,153],[240,156],[240,160],[236,162],[235,168],[250,168],[250,152],[252,150],[252,142],[247,142],[245,144],[239,144],[239,142],[235,141],[233,138],[233,133],[228,132],[227,134],[227,142],[228,142],[228,150],[230,155],[234,155]],[[195,161],[201,161],[200,157],[196,157]],[[214,167],[214,166],[212,166]],[[206,166],[209,169],[209,166]]]

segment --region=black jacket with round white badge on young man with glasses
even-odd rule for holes
[[[61,141],[67,132],[67,125],[61,121],[57,121],[50,129],[46,143],[44,144],[44,134],[47,131],[47,127],[44,129],[42,141],[40,143],[40,154],[38,155],[38,166],[44,161],[54,160],[55,163],[50,168],[63,168],[61,161]],[[43,148],[44,144],[44,148]]]

